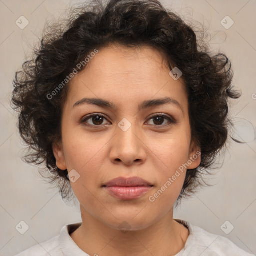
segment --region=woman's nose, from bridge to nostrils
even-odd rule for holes
[[[125,123],[127,125],[127,123]],[[132,165],[141,164],[146,159],[146,144],[142,131],[136,123],[130,123],[126,130],[120,124],[116,127],[115,136],[111,139],[109,153],[110,161],[114,164]]]

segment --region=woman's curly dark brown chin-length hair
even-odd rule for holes
[[[54,97],[47,95],[95,48],[111,44],[152,46],[163,53],[170,70],[177,66],[183,73],[191,138],[201,149],[201,162],[187,171],[177,201],[195,193],[202,182],[206,184],[201,170],[213,168],[226,144],[228,126],[233,125],[227,115],[228,97],[238,98],[240,94],[231,86],[230,60],[223,53],[211,54],[192,26],[157,0],[110,0],[105,5],[94,0],[75,10],[64,28],[62,22],[48,27],[39,49],[34,49],[33,57],[23,63],[13,79],[12,107],[19,112],[19,132],[28,145],[25,161],[45,163],[48,182],[59,188],[62,199],[69,198],[72,189],[68,172],[56,166],[52,150],[53,143],[61,140],[68,82]]]

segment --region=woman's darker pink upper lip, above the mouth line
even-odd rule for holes
[[[152,186],[152,184],[140,177],[118,177],[104,183],[103,186]]]

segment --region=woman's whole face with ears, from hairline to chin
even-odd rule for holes
[[[72,177],[82,215],[139,230],[172,212],[200,156],[191,143],[184,83],[169,71],[152,47],[109,46],[68,84],[62,141],[53,151]]]

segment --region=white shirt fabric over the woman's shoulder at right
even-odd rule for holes
[[[182,254],[184,256],[253,256],[224,236],[210,233],[187,221],[180,221],[189,229],[190,233],[185,243],[184,254]]]

